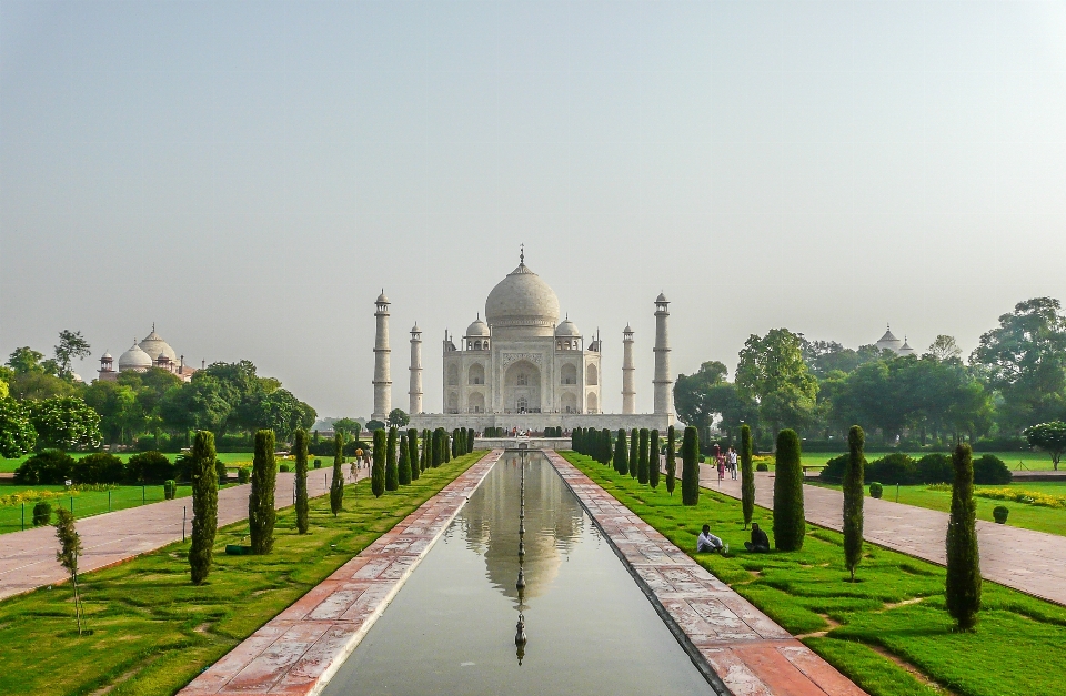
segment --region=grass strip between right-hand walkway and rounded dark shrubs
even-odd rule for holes
[[[812,483],[812,482],[807,482]],[[815,483],[826,488],[841,490],[838,485]],[[1033,483],[1012,483],[1002,486],[976,486],[980,488],[1020,488],[1023,491],[1036,491],[1052,495],[1066,495],[1066,482],[1057,481],[1034,481]],[[869,496],[869,488],[866,491]],[[896,501],[896,486],[885,486],[883,498],[886,501]],[[1042,507],[1037,505],[1027,505],[1014,501],[996,501],[986,497],[976,497],[977,518],[987,522],[995,522],[992,511],[997,505],[1005,505],[1010,514],[1007,517],[1007,525],[1020,527],[1023,529],[1033,529],[1036,532],[1046,532],[1048,534],[1066,535],[1066,510],[1055,507]],[[899,486],[899,502],[916,507],[926,507],[928,510],[938,510],[948,512],[952,507],[951,491],[929,491],[925,484],[917,486]]]

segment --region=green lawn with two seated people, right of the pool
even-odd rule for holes
[[[700,504],[681,504],[665,485],[642,486],[590,457],[563,454],[645,522],[715,576],[874,696],[935,690],[885,650],[957,696],[1063,693],[1066,684],[1066,608],[984,583],[975,633],[954,633],[944,605],[944,569],[866,544],[859,582],[847,582],[843,536],[807,524],[801,552],[744,551],[741,502],[701,491]],[[754,522],[773,539],[773,516],[756,507]],[[731,546],[728,556],[695,554],[703,524]]]

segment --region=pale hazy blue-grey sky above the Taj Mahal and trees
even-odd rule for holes
[[[0,1],[0,354],[157,323],[321,415],[441,408],[517,264],[674,372],[786,326],[968,352],[1066,300],[1066,3]]]

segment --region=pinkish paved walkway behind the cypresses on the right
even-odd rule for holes
[[[700,484],[720,490],[717,472],[701,465]],[[733,481],[726,472],[721,491],[740,498],[740,474]],[[886,486],[885,494],[889,493]],[[755,503],[773,510],[772,474],[756,472]],[[844,495],[839,491],[805,485],[803,506],[808,522],[837,531],[843,526]],[[935,510],[867,497],[863,507],[863,536],[878,546],[944,565],[947,517],[947,513]],[[985,579],[1066,605],[1066,536],[978,520],[977,539],[980,574]]]

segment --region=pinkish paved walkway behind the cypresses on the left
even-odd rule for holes
[[[344,475],[351,481],[349,466],[344,466]],[[359,471],[360,478],[368,475],[368,470]],[[308,495],[315,497],[328,493],[332,478],[332,467],[311,470],[308,473]],[[295,474],[278,474],[274,493],[276,507],[292,505],[294,486]],[[219,526],[248,517],[250,487],[250,484],[245,484],[219,491]],[[84,548],[78,562],[79,572],[97,571],[180,542],[182,526],[185,534],[192,531],[191,497],[79,520],[78,533]],[[66,581],[67,571],[56,561],[58,549],[53,526],[0,535],[0,599]]]

